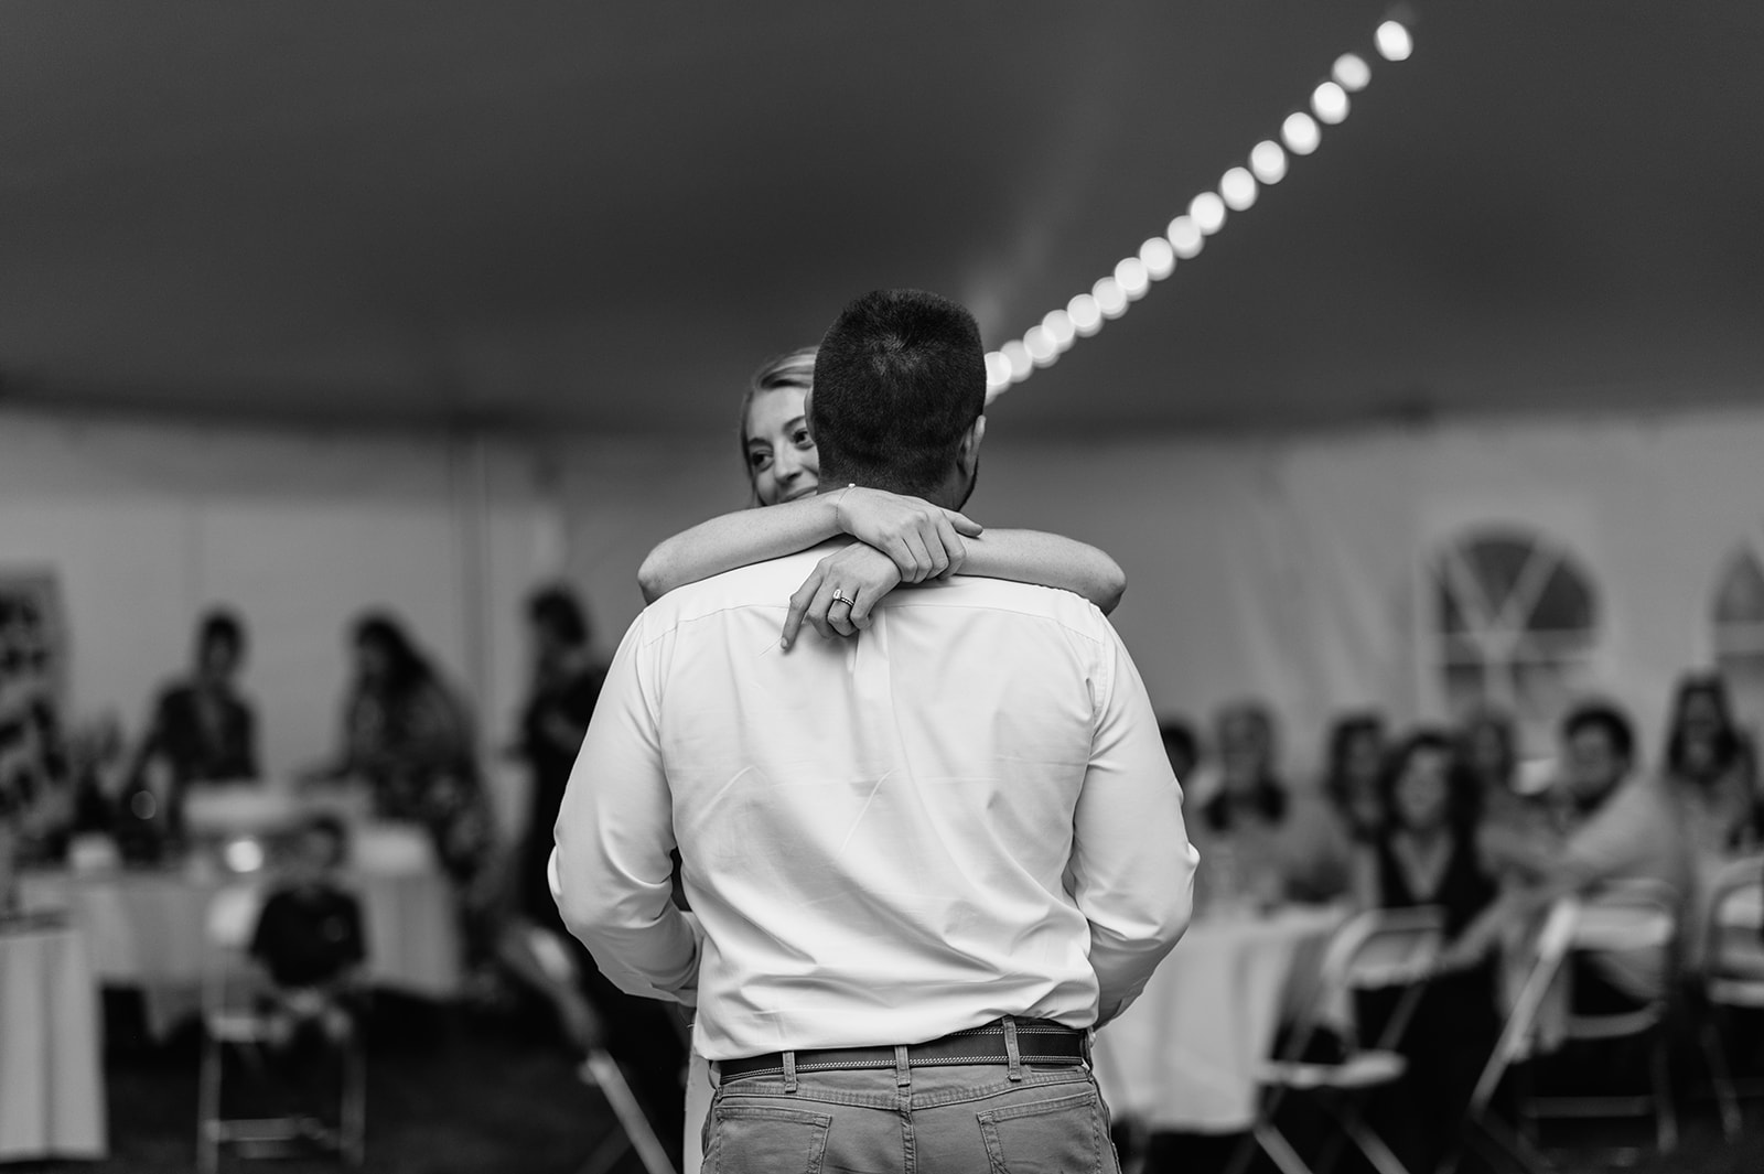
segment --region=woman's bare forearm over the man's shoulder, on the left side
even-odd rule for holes
[[[781,559],[838,534],[840,516],[829,495],[725,513],[651,550],[637,571],[637,585],[644,592],[644,603],[654,603],[686,583]]]

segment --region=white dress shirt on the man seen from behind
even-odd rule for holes
[[[709,1059],[1113,1017],[1182,936],[1196,860],[1115,629],[954,578],[783,652],[824,554],[632,624],[557,818],[564,922],[619,987],[697,1003]]]

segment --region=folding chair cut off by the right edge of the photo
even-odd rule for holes
[[[1722,1017],[1730,1010],[1764,1010],[1764,943],[1759,940],[1759,904],[1764,903],[1764,855],[1727,864],[1709,887],[1704,922],[1704,959],[1699,975],[1704,1008],[1697,1035],[1709,1061],[1722,1132],[1739,1137],[1745,1118],[1722,1045]]]

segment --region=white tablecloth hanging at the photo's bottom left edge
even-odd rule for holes
[[[106,1155],[99,1049],[85,938],[0,927],[0,1162]]]

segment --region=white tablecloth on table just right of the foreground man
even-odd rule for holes
[[[1256,1066],[1311,989],[1334,908],[1196,922],[1095,1042],[1110,1111],[1152,1130],[1233,1133],[1256,1118]]]

